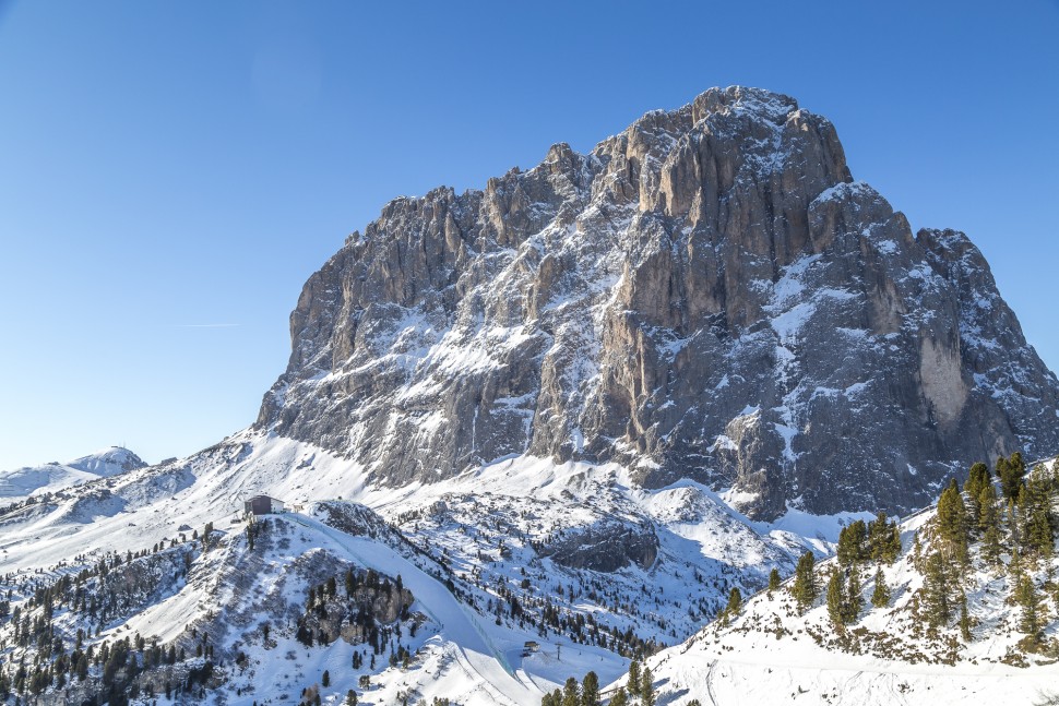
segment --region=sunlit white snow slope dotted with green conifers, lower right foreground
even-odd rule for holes
[[[1054,464],[1044,467],[1051,475]],[[1055,484],[1051,493],[1055,510]],[[969,498],[965,501],[969,507]],[[836,559],[818,564],[821,589],[808,609],[798,606],[792,595],[794,579],[788,579],[780,589],[748,600],[727,621],[718,620],[688,643],[650,659],[658,703],[1045,703],[1047,696],[1059,695],[1059,595],[1054,578],[1059,560],[1031,552],[1011,535],[1010,518],[1000,524],[999,564],[984,559],[981,533],[975,530],[971,563],[963,571],[952,570],[949,619],[931,625],[931,599],[925,589],[928,558],[947,551],[935,507],[901,526],[897,561],[858,566],[862,605],[855,620],[838,626],[831,619],[828,576],[841,567]],[[1013,548],[1022,550],[1014,561]],[[891,595],[880,607],[871,603],[877,569]],[[1015,599],[1022,577],[1032,582],[1040,600],[1036,648],[1026,644],[1025,609]],[[967,607],[965,635],[961,596]]]

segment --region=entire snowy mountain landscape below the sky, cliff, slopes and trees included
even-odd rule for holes
[[[794,98],[395,199],[290,338],[0,471],[0,704],[1059,704],[1059,380]]]

